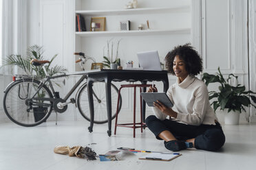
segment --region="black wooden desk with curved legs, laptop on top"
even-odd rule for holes
[[[93,71],[88,73],[87,78],[87,93],[89,99],[89,110],[90,110],[90,126],[88,127],[89,132],[92,132],[94,126],[94,103],[92,96],[92,84],[94,82],[105,82],[106,87],[106,98],[107,98],[107,119],[109,130],[107,134],[111,136],[111,81],[114,82],[141,82],[141,84],[147,84],[147,82],[158,81],[164,84],[164,92],[167,92],[169,87],[169,81],[167,71],[142,71],[142,70],[109,70],[101,69],[99,71]],[[143,89],[145,91],[146,88]],[[142,114],[143,121],[145,121],[145,101],[142,100]]]

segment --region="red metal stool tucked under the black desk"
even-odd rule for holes
[[[141,88],[145,88],[145,87],[149,87],[152,86],[151,84],[123,84],[121,85],[121,87],[118,90],[118,104],[117,104],[117,108],[116,108],[116,123],[115,123],[115,132],[114,134],[116,134],[116,127],[120,126],[120,127],[131,127],[134,129],[134,138],[135,138],[135,130],[136,128],[141,128],[141,132],[142,132],[142,128],[146,127],[146,124],[143,123],[142,121],[142,97],[140,96],[140,122],[136,123],[136,87],[140,87],[140,93],[141,93]],[[129,88],[129,87],[133,87],[134,88],[134,123],[117,123],[118,121],[118,105],[119,105],[119,98],[120,98],[120,92],[122,88]]]

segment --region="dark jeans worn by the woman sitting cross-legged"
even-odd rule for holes
[[[146,119],[147,127],[155,134],[156,138],[164,130],[168,130],[180,141],[195,138],[195,148],[207,151],[216,151],[225,143],[225,135],[220,123],[216,125],[186,125],[177,121],[165,119],[161,121],[156,116],[151,115]]]

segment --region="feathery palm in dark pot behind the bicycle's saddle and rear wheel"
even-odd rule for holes
[[[52,66],[52,61],[56,58],[56,56],[57,54],[52,57],[52,59],[50,60],[50,63],[47,64],[46,66],[46,70],[50,76],[56,75],[58,73],[65,73],[67,71],[67,69],[65,69],[63,66]],[[45,72],[43,71],[43,68],[41,66],[34,66],[30,64],[30,61],[32,59],[45,60],[43,56],[43,47],[39,47],[38,45],[33,45],[31,47],[28,47],[26,57],[22,57],[21,55],[15,55],[15,54],[7,56],[7,58],[3,60],[3,66],[6,66],[6,65],[18,66],[18,68],[21,69],[25,74],[29,76],[34,76],[34,79],[36,80],[42,80],[43,78],[46,77]],[[56,82],[54,82],[54,84],[59,86],[59,84],[57,84]],[[56,92],[56,96],[58,96],[58,92]],[[38,94],[38,97],[45,97],[45,92],[43,90],[40,91]],[[47,112],[47,108],[43,108],[39,106],[39,107],[33,108],[33,111],[34,111],[35,121],[39,121],[45,116],[45,112]]]

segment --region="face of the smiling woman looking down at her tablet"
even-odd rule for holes
[[[180,56],[175,56],[173,60],[173,71],[176,77],[180,78],[181,82],[189,75],[185,69],[185,62],[180,59]]]

